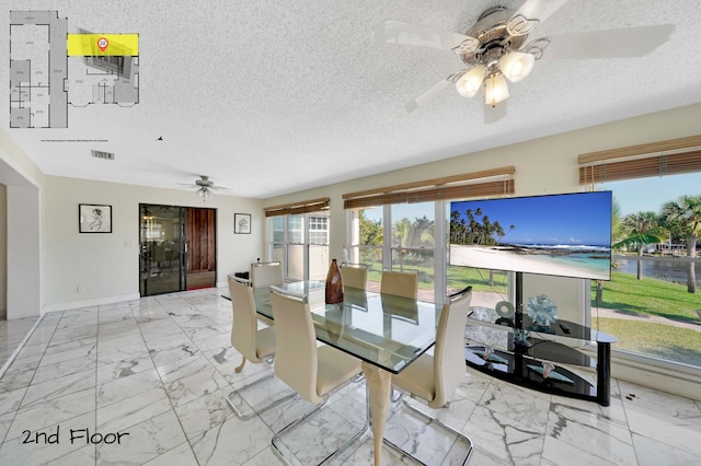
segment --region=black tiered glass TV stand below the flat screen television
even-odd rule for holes
[[[466,347],[467,364],[514,384],[609,406],[611,343],[617,341],[616,337],[562,319],[545,328],[536,326],[524,314],[521,279],[517,272],[513,321],[487,307],[471,307],[466,334],[482,345]],[[570,339],[596,341],[596,360],[562,342]],[[596,386],[553,363],[594,369]]]

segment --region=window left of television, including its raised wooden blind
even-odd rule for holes
[[[418,273],[418,298],[443,302],[447,292],[471,284],[446,267],[446,199],[514,193],[513,166],[426,179],[344,195],[350,260],[370,267],[368,288],[379,290],[382,270]],[[455,287],[451,289],[451,287]]]

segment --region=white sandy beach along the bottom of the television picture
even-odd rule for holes
[[[499,247],[450,245],[450,264],[492,270],[519,270],[527,273],[555,275],[563,277],[591,278],[600,276],[598,270],[576,265],[565,265],[539,258],[537,255],[519,254]]]

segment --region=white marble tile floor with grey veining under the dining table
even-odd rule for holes
[[[2,465],[276,465],[271,438],[309,409],[299,398],[251,420],[227,394],[267,364],[233,368],[230,302],[205,289],[45,315],[0,378]],[[253,407],[287,389],[241,393]],[[286,442],[294,462],[323,457],[363,422],[349,384]],[[611,406],[551,396],[468,369],[448,409],[433,411],[474,443],[470,465],[698,465],[701,403],[612,381]],[[457,464],[455,443],[391,407],[387,436],[429,465]],[[413,464],[383,448],[384,465]],[[369,434],[334,465],[371,464]]]

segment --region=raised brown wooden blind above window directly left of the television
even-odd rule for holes
[[[445,199],[502,196],[515,193],[514,166],[425,179],[343,195],[345,209],[388,203],[428,202]]]

